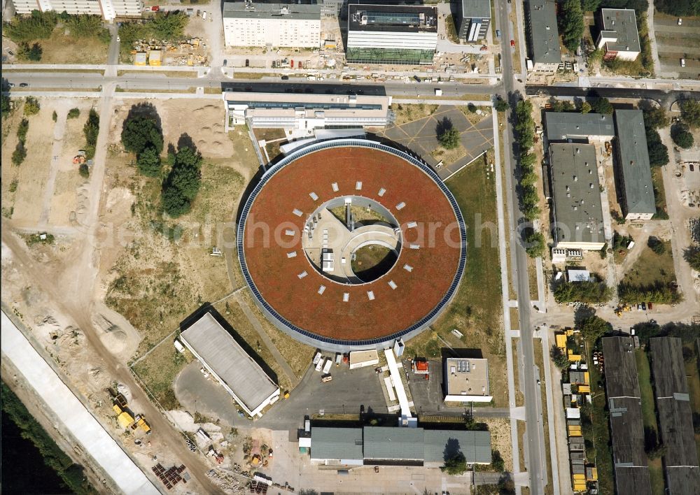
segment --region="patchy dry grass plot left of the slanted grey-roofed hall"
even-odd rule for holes
[[[185,350],[180,354],[174,347],[172,339],[163,340],[151,354],[137,362],[132,371],[146,384],[160,406],[165,410],[178,409],[179,401],[175,397],[173,382],[182,369],[190,364],[195,357]]]

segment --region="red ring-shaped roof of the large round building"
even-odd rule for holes
[[[300,236],[322,203],[353,195],[380,203],[402,229],[398,261],[381,278],[361,285],[325,277],[307,258]],[[398,209],[400,203],[405,206]],[[408,329],[441,303],[458,273],[462,240],[452,203],[428,173],[384,150],[339,146],[293,159],[265,180],[242,221],[245,266],[262,298],[290,324],[325,338],[370,340]],[[412,222],[418,227],[408,227]],[[289,257],[291,252],[296,254]],[[325,289],[318,294],[321,285]]]

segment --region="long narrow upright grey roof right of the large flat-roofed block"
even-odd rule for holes
[[[628,213],[656,213],[642,110],[615,110],[619,166]]]

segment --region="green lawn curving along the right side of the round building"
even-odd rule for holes
[[[481,350],[489,359],[491,395],[496,407],[507,406],[505,343],[501,308],[500,264],[498,261],[498,229],[496,186],[491,174],[486,178],[486,164],[493,157],[489,151],[482,158],[451,177],[447,187],[454,194],[467,227],[467,261],[464,275],[454,300],[426,331],[407,342],[409,356],[437,357],[444,344]],[[485,224],[485,225],[484,225]],[[477,226],[484,226],[477,229]],[[477,231],[478,230],[478,231]],[[464,336],[451,333],[458,329]],[[437,354],[435,354],[437,352]]]

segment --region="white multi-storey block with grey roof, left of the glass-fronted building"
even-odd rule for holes
[[[321,5],[315,0],[227,1],[223,4],[223,32],[226,46],[318,48]]]

